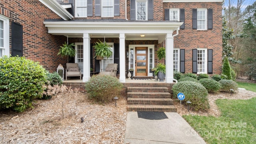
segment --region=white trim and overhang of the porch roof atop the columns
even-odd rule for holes
[[[124,33],[126,40],[158,40],[164,41],[167,33],[172,33],[183,22],[44,22],[48,33],[64,35],[69,38],[82,38],[84,33],[91,38],[119,38]],[[140,35],[144,35],[141,37]]]

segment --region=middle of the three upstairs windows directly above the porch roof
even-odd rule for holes
[[[114,0],[102,0],[102,17],[114,17]]]

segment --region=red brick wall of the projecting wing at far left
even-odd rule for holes
[[[40,62],[50,72],[56,71],[59,64],[66,65],[68,59],[57,56],[66,36],[48,34],[43,24],[44,19],[60,19],[57,14],[38,0],[2,0],[0,14],[10,18],[10,52],[13,21],[23,26],[23,56]]]

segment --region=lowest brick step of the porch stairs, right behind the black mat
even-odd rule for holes
[[[158,112],[177,112],[174,105],[141,105],[141,104],[131,104],[127,105],[128,111],[158,111]]]

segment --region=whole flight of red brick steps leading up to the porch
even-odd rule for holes
[[[166,87],[127,87],[128,111],[177,112]]]

